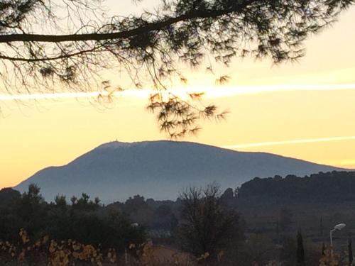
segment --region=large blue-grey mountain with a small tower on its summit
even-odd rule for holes
[[[222,189],[253,177],[285,176],[341,170],[269,153],[246,153],[210,145],[168,140],[100,145],[67,165],[48,167],[14,189],[38,184],[46,200],[57,194],[99,196],[104,202],[141,194],[176,199],[190,185],[217,181]]]

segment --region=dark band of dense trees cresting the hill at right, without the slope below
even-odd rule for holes
[[[238,190],[244,204],[337,203],[355,201],[355,172],[321,172],[307,177],[254,178]]]

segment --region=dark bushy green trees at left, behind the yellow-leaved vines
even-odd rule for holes
[[[38,239],[49,235],[53,240],[77,240],[84,244],[124,250],[130,243],[140,244],[146,238],[142,226],[131,226],[123,214],[114,217],[102,214],[99,200],[82,194],[67,204],[65,196],[56,196],[48,204],[40,195],[40,189],[31,184],[28,192],[0,208],[0,240],[16,241],[16,232],[25,228],[29,238]]]

